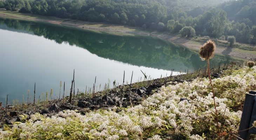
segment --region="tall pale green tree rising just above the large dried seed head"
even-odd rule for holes
[[[213,17],[213,36],[220,37],[224,33],[227,13],[220,9],[218,14]]]

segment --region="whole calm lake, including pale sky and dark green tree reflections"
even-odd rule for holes
[[[122,35],[92,31],[45,22],[0,18],[0,102],[6,105],[13,100],[33,102],[34,84],[36,99],[53,89],[53,99],[61,94],[65,82],[69,92],[75,70],[75,91],[85,91],[113,81],[119,85],[147,76],[160,78],[180,71],[193,72],[205,68],[198,50],[166,42],[160,38],[140,35]],[[211,66],[237,61],[228,55],[215,54]],[[29,95],[27,91],[30,90]]]

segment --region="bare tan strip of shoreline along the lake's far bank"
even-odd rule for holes
[[[200,46],[204,43],[204,42],[201,42],[201,43],[196,42],[195,43],[195,41],[191,41],[185,37],[177,37],[177,36],[168,35],[168,34],[164,34],[164,33],[159,34],[156,31],[153,31],[151,33],[147,33],[145,31],[141,31],[141,30],[133,31],[138,28],[121,26],[121,25],[104,26],[105,23],[95,23],[94,24],[93,22],[70,20],[70,19],[60,19],[57,17],[48,17],[48,16],[47,16],[48,19],[43,19],[45,16],[40,16],[40,15],[36,15],[36,17],[39,17],[39,18],[26,18],[26,17],[22,17],[22,16],[14,16],[14,15],[0,13],[0,16],[7,17],[7,18],[17,18],[17,19],[49,22],[49,23],[54,23],[54,24],[73,26],[73,27],[79,27],[79,28],[90,29],[90,30],[108,31],[110,33],[115,32],[115,33],[122,33],[122,34],[137,34],[137,35],[155,36],[155,37],[162,38],[163,40],[166,40],[166,41],[169,41],[172,43],[176,43],[176,44],[181,44],[185,47],[193,48],[193,49],[199,49]],[[33,14],[31,16],[33,16]],[[97,27],[99,24],[100,25],[102,24],[102,26]],[[94,26],[94,25],[97,25],[97,26]],[[128,29],[131,29],[131,30],[128,30]],[[223,47],[223,46],[219,46],[219,45],[216,46],[215,52],[221,53],[221,54],[226,54],[226,55],[231,55],[231,56],[235,56],[235,57],[242,57],[242,58],[255,57],[255,55],[247,54],[245,52],[236,51],[235,48]]]

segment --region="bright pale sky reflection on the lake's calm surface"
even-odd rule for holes
[[[110,87],[116,80],[130,83],[133,71],[133,82],[143,72],[152,78],[170,75],[170,71],[124,64],[91,54],[89,51],[67,43],[57,44],[53,40],[25,33],[0,29],[0,102],[5,102],[7,94],[9,103],[14,99],[22,102],[22,95],[27,101],[27,90],[30,90],[33,102],[34,82],[36,82],[36,99],[42,92],[50,92],[53,97],[59,96],[59,82],[62,80],[61,94],[65,81],[65,94],[70,90],[75,69],[75,91],[83,91],[86,86],[92,87],[95,76],[96,86],[101,87],[110,79]],[[174,74],[176,74],[174,72]]]

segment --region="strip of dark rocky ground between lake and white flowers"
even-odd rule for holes
[[[1,107],[0,129],[3,129],[4,124],[12,126],[12,124],[15,122],[24,121],[24,117],[26,119],[30,119],[30,115],[35,114],[37,112],[45,116],[52,116],[58,113],[59,111],[63,110],[76,110],[81,114],[85,114],[86,112],[90,112],[97,109],[108,110],[112,109],[115,106],[127,107],[138,105],[141,103],[143,99],[160,90],[159,88],[161,86],[184,82],[185,75],[186,74],[172,77],[164,77],[155,79],[154,81],[144,81],[144,83],[141,83],[144,85],[147,84],[148,86],[140,88],[131,88],[134,87],[134,85],[137,83],[134,83],[132,85],[124,85],[123,87],[120,85],[115,89],[108,90],[107,92],[105,91],[105,93],[103,93],[102,91],[97,92],[94,95],[92,95],[91,98],[85,97],[85,94],[79,94],[72,99],[71,103],[68,102],[69,97],[66,97],[66,100],[56,99],[49,101],[47,104],[45,102],[36,105],[31,103],[29,105],[19,104],[18,106],[8,105],[7,107]],[[196,74],[194,77],[197,77],[199,75],[200,73],[198,73],[198,75]],[[220,74],[215,73],[211,76],[217,78],[220,77]],[[191,80],[193,80],[193,78],[186,79],[186,81]],[[181,100],[184,99],[186,98],[181,98]],[[120,111],[121,108],[118,108],[116,110],[116,112]]]

